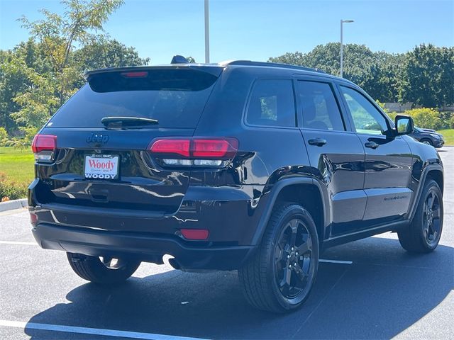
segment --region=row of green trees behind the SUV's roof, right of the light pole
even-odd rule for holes
[[[309,53],[285,53],[270,62],[323,69],[338,75],[341,45],[318,45]],[[426,107],[454,102],[454,47],[416,46],[406,54],[372,52],[365,45],[344,45],[343,77],[382,102],[411,102]]]

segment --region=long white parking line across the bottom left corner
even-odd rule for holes
[[[100,336],[115,336],[128,339],[153,339],[153,340],[201,340],[201,338],[190,338],[187,336],[175,336],[153,333],[140,333],[137,331],[118,331],[115,329],[87,328],[63,326],[61,324],[37,324],[35,322],[20,322],[0,319],[0,327],[14,327],[21,329],[40,329],[43,331],[62,331],[65,333],[92,334]]]

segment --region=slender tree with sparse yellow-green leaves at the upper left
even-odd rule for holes
[[[20,125],[23,134],[22,139],[13,140],[14,145],[29,145],[38,128],[74,94],[81,80],[80,64],[71,57],[74,45],[83,48],[101,40],[103,23],[123,0],[65,0],[62,4],[65,5],[62,16],[43,9],[41,20],[29,21],[24,16],[20,19],[39,47],[42,55],[38,59],[45,62],[38,64],[33,53],[26,53],[26,57],[19,53],[2,64],[6,73],[14,74],[20,69],[26,76],[25,89],[13,97],[18,109],[11,113],[11,118]]]

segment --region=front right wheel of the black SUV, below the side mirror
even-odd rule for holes
[[[443,230],[443,196],[436,181],[424,183],[416,213],[409,227],[398,232],[406,251],[429,253],[436,249]]]

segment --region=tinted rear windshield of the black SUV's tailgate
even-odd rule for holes
[[[52,117],[52,128],[99,128],[104,117],[153,118],[150,128],[195,128],[217,77],[196,69],[94,74]]]

